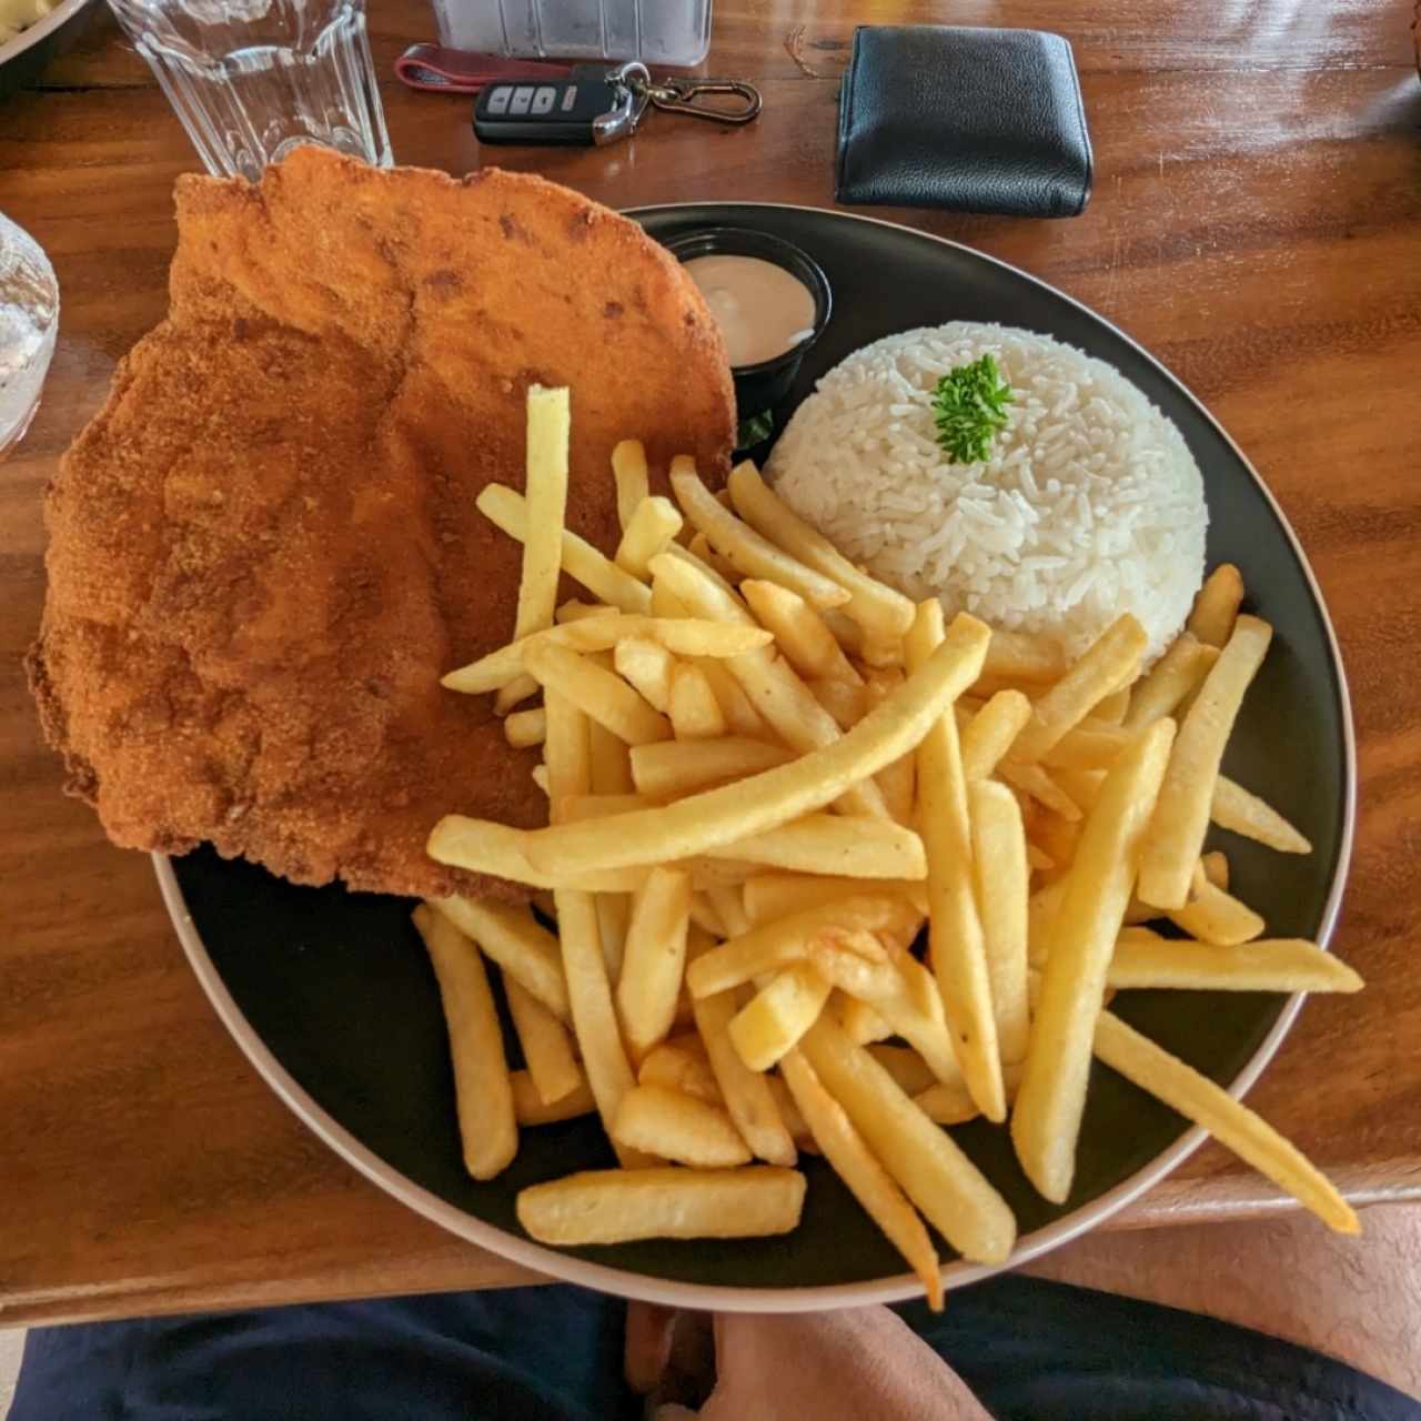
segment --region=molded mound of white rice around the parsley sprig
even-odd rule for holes
[[[932,392],[988,351],[1009,423],[985,463],[951,463]],[[1113,365],[1034,331],[952,321],[865,345],[794,412],[766,473],[885,583],[1070,657],[1128,611],[1152,659],[1204,578],[1204,480],[1174,422]]]

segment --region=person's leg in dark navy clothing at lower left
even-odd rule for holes
[[[36,1329],[11,1421],[631,1417],[622,1317],[526,1287]]]

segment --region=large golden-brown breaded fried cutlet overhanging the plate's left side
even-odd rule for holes
[[[458,810],[547,821],[490,698],[439,676],[506,642],[530,384],[567,385],[567,520],[612,551],[611,450],[723,480],[719,331],[632,222],[543,179],[303,148],[260,185],[178,182],[168,320],[47,495],[31,685],[109,838],[210,841],[300,884],[523,890],[425,854]],[[567,584],[571,590],[571,584]]]

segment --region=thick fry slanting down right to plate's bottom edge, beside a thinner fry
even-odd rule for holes
[[[1016,1219],[1006,1201],[864,1047],[821,1016],[800,1053],[904,1194],[963,1258],[1000,1263],[1010,1255]]]

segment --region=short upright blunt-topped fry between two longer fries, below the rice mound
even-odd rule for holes
[[[1016,797],[992,780],[968,784],[978,911],[1003,1064],[1026,1056],[1026,830]]]

